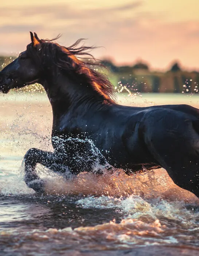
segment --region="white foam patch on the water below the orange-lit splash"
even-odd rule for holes
[[[140,196],[130,195],[126,198],[100,196],[79,199],[77,204],[83,208],[115,208],[122,212],[125,218],[139,219],[147,223],[168,218],[173,221],[180,221],[181,225],[194,225],[199,214],[191,213],[184,208],[183,202],[168,202],[163,199],[146,200]]]

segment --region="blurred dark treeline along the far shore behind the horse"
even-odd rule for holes
[[[0,70],[14,59],[15,57],[0,56]],[[151,71],[149,65],[143,61],[137,61],[132,66],[117,66],[112,60],[104,59],[100,64],[105,67],[101,68],[101,72],[108,75],[116,91],[126,86],[132,93],[198,93],[199,72],[184,71],[177,62],[174,62],[166,72]],[[43,91],[38,85],[30,86],[29,89]]]

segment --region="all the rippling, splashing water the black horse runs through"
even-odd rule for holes
[[[120,96],[126,105],[189,103],[197,96]],[[69,181],[42,166],[46,194],[23,181],[31,147],[52,151],[46,95],[0,95],[0,255],[198,255],[199,200],[164,169],[127,176],[83,172]],[[164,146],[164,145],[163,145]]]

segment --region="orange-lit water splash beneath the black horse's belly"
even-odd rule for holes
[[[199,203],[199,199],[189,191],[176,186],[164,169],[151,170],[142,174],[128,176],[123,170],[104,175],[82,172],[72,180],[57,176],[45,179],[49,194],[73,194],[113,196],[120,198],[130,195],[143,199],[161,199]]]

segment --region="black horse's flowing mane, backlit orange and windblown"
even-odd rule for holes
[[[79,80],[82,81],[82,84],[85,81],[86,84],[91,85],[95,91],[106,99],[106,101],[114,102],[115,95],[113,84],[109,81],[106,75],[93,69],[93,67],[102,66],[97,63],[93,55],[89,53],[90,50],[95,49],[96,47],[79,46],[83,40],[82,38],[78,39],[73,45],[65,47],[53,42],[58,38],[59,36],[54,39],[39,39],[41,46],[36,51],[36,54],[35,49],[32,47],[32,43],[27,45],[27,52],[31,54],[38,65],[42,66],[50,62],[54,63],[63,71],[67,71],[67,74],[73,76],[74,79],[77,79],[78,77]],[[91,61],[84,61],[83,59],[86,57],[91,58]]]

